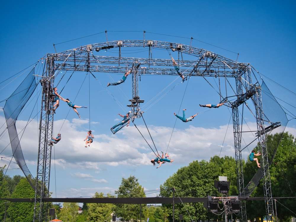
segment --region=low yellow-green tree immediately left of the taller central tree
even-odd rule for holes
[[[103,198],[103,193],[95,193],[95,198]],[[112,197],[108,194],[107,197]],[[87,212],[88,212],[88,220],[90,222],[96,221],[111,221],[112,212],[115,208],[114,204],[96,204],[96,203],[88,203],[87,204]]]

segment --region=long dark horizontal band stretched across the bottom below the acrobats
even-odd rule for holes
[[[273,199],[290,199],[296,197],[273,197]],[[34,198],[0,198],[10,202],[34,202]],[[181,197],[183,203],[207,202],[207,197]],[[175,198],[175,203],[181,203],[180,198]],[[239,197],[239,200],[265,200],[264,197]],[[131,197],[131,198],[43,198],[43,202],[67,203],[102,203],[102,204],[172,204],[172,197]]]

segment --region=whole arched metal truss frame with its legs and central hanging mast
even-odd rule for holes
[[[119,57],[97,56],[94,53],[100,50],[108,50],[112,48],[119,49]],[[125,58],[121,57],[123,47],[149,47],[149,58]],[[170,59],[153,59],[151,56],[152,48],[160,48],[171,51],[178,51],[182,60],[177,60],[180,71],[184,76],[209,76],[223,77],[226,79],[235,78],[237,100],[230,103],[232,108],[233,128],[234,128],[234,146],[236,169],[238,175],[239,195],[244,190],[244,178],[242,169],[242,152],[241,152],[241,129],[239,124],[239,105],[252,98],[256,107],[256,120],[258,127],[258,141],[262,149],[264,175],[264,197],[266,200],[266,213],[270,221],[273,221],[273,206],[271,196],[271,183],[268,169],[267,149],[265,142],[265,131],[263,124],[262,98],[260,86],[252,83],[250,76],[250,64],[239,63],[229,58],[217,55],[205,49],[199,49],[184,44],[154,41],[154,40],[120,40],[110,41],[98,44],[89,44],[75,49],[67,50],[61,53],[47,55],[47,73],[44,75],[42,82],[42,105],[41,118],[39,125],[39,148],[37,162],[37,182],[35,196],[34,221],[44,221],[42,217],[43,203],[39,197],[48,196],[49,192],[49,172],[51,147],[48,141],[52,137],[53,114],[51,107],[53,100],[51,99],[54,70],[69,71],[91,71],[103,73],[125,73],[127,68],[132,68],[137,64],[140,67],[132,70],[132,99],[130,100],[131,112],[134,117],[140,117],[140,103],[144,100],[139,98],[138,77],[141,75],[176,75],[174,65]],[[91,52],[91,54],[90,54]],[[183,60],[183,55],[192,55],[193,60]],[[218,73],[217,73],[218,71]],[[228,81],[228,80],[227,80]],[[230,84],[230,83],[229,83]],[[259,87],[259,88],[258,88]],[[226,100],[227,98],[223,98]],[[38,188],[37,188],[38,187]],[[247,222],[246,206],[242,202],[241,205],[242,222]]]

